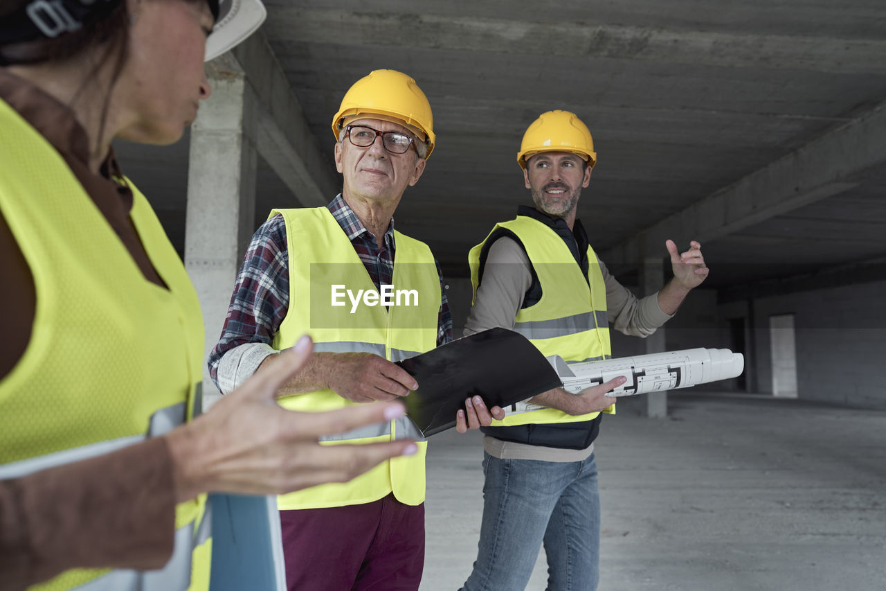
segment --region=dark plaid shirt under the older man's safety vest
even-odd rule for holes
[[[372,282],[391,284],[393,280],[393,220],[385,232],[384,246],[378,248],[376,237],[362,225],[354,210],[339,194],[326,206],[338,225],[351,240]],[[452,316],[449,314],[443,275],[436,259],[440,278],[440,309],[437,321],[437,345],[452,340]],[[253,235],[234,293],[230,298],[228,316],[221,329],[221,338],[209,354],[209,374],[218,386],[218,366],[221,357],[245,343],[270,345],[290,306],[289,255],[286,244],[286,225],[282,216],[275,216],[261,225]]]

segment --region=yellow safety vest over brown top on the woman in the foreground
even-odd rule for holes
[[[36,288],[27,350],[0,381],[0,478],[108,453],[189,419],[199,398],[203,319],[184,266],[144,195],[130,217],[161,288],[56,149],[0,100],[0,210]],[[74,569],[46,591],[204,591],[206,497],[175,511],[175,551],[158,571]]]

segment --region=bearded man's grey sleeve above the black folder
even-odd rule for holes
[[[477,298],[464,325],[464,335],[486,328],[513,328],[526,290],[532,285],[529,257],[506,236],[489,248]]]

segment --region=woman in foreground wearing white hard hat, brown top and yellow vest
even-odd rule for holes
[[[307,337],[197,416],[196,292],[110,143],[180,138],[211,92],[205,57],[264,14],[260,0],[0,4],[4,591],[206,590],[207,491],[288,493],[416,452],[317,443],[401,416],[396,403],[276,405]]]

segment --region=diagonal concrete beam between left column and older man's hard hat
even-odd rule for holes
[[[261,31],[252,35],[207,69],[213,75],[245,73],[257,106],[253,140],[258,153],[299,205],[329,203],[340,185],[332,168],[331,138],[327,149],[321,149],[265,35]]]

